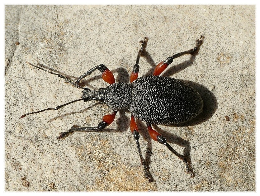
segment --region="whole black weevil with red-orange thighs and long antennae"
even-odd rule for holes
[[[193,177],[194,174],[187,158],[184,155],[177,153],[172,146],[168,144],[166,139],[152,128],[152,125],[170,125],[187,122],[202,112],[203,101],[200,94],[194,88],[178,79],[163,77],[160,76],[160,74],[173,62],[173,59],[185,54],[195,54],[203,43],[203,38],[204,37],[201,36],[200,39],[196,40],[196,46],[191,50],[169,56],[167,59],[160,62],[155,67],[153,75],[138,78],[139,59],[145,50],[148,41],[148,38],[145,37],[143,41],[140,41],[141,47],[138,51],[132,73],[130,74],[130,84],[116,83],[113,73],[103,64],[93,67],[81,75],[76,82],[73,82],[71,79],[61,74],[50,72],[42,67],[26,62],[33,67],[65,79],[65,81],[73,84],[77,88],[83,89],[83,95],[81,99],[65,103],[55,108],[47,108],[36,112],[26,113],[20,118],[46,110],[58,110],[70,103],[81,100],[84,102],[96,100],[108,105],[113,110],[111,114],[103,116],[102,121],[96,127],[72,126],[68,131],[61,132],[57,139],[62,139],[75,131],[103,130],[114,121],[116,113],[119,110],[128,109],[131,112],[130,131],[136,141],[141,164],[144,168],[144,175],[148,181],[152,181],[152,176],[141,154],[139,145],[140,136],[135,118],[146,123],[149,135],[153,140],[165,145],[174,155],[184,161],[185,172],[189,173],[190,176]],[[101,72],[102,79],[110,85],[98,90],[90,90],[89,88],[83,88],[80,86],[80,81],[92,74],[96,69]]]

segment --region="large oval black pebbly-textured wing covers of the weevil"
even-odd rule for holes
[[[132,82],[129,111],[149,124],[187,122],[202,112],[203,101],[190,85],[163,76],[145,76]]]

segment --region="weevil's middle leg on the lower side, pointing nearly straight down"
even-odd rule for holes
[[[139,137],[140,136],[139,136],[138,128],[137,128],[136,123],[135,123],[134,115],[131,115],[130,130],[131,130],[131,132],[132,132],[132,134],[135,138],[135,142],[136,142],[137,150],[138,150],[138,153],[139,153],[139,156],[140,156],[141,164],[144,167],[145,178],[147,178],[149,182],[152,182],[152,175],[149,172],[148,167],[145,164],[144,158],[141,154],[141,148],[140,148],[140,144],[139,144]]]

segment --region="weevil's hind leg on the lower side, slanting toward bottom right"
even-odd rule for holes
[[[161,136],[157,131],[155,131],[153,128],[152,128],[152,125],[151,124],[148,124],[146,123],[147,125],[147,128],[148,128],[148,132],[151,136],[151,138],[154,140],[154,141],[158,141],[159,143],[161,144],[164,144],[174,155],[176,155],[177,157],[179,157],[181,160],[184,161],[185,165],[186,165],[186,168],[185,168],[185,172],[188,174],[191,175],[191,177],[194,177],[194,174],[193,174],[193,171],[192,171],[192,168],[191,166],[188,164],[188,161],[187,159],[185,158],[185,156],[183,155],[180,155],[179,153],[177,153],[172,146],[170,146],[168,144],[168,142],[166,141],[166,139]]]

